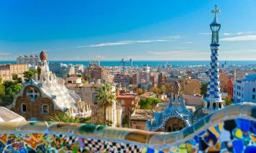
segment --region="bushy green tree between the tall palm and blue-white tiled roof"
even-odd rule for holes
[[[140,109],[153,109],[159,103],[161,103],[161,100],[158,100],[157,98],[154,98],[154,97],[141,99],[141,100],[139,100],[139,108]]]

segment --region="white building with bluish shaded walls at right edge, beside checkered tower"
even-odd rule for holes
[[[256,75],[246,75],[234,81],[234,103],[256,102]]]

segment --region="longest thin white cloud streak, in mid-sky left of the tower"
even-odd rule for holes
[[[86,47],[103,47],[103,46],[122,46],[122,45],[130,45],[130,44],[137,44],[137,43],[152,43],[152,42],[170,42],[173,39],[180,38],[180,35],[176,36],[169,36],[165,38],[159,39],[147,39],[147,40],[124,40],[124,41],[117,41],[117,42],[102,42],[95,45],[89,46],[76,46],[76,48],[86,48]]]

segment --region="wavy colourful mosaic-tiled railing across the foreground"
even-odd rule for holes
[[[2,122],[1,152],[256,152],[256,104],[225,107],[176,133],[63,122]]]

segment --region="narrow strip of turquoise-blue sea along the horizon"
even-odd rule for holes
[[[89,64],[88,60],[50,60],[50,63],[63,63],[63,64],[83,64],[87,66]],[[130,66],[129,61],[124,61],[125,66]],[[16,61],[0,61],[0,64],[15,64]],[[121,66],[120,60],[101,60],[101,66]],[[246,65],[256,65],[256,60],[221,60],[220,64],[233,65],[233,66],[246,66]],[[133,60],[133,66],[145,66],[150,67],[172,65],[173,67],[179,66],[198,66],[198,65],[210,65],[210,60]]]

